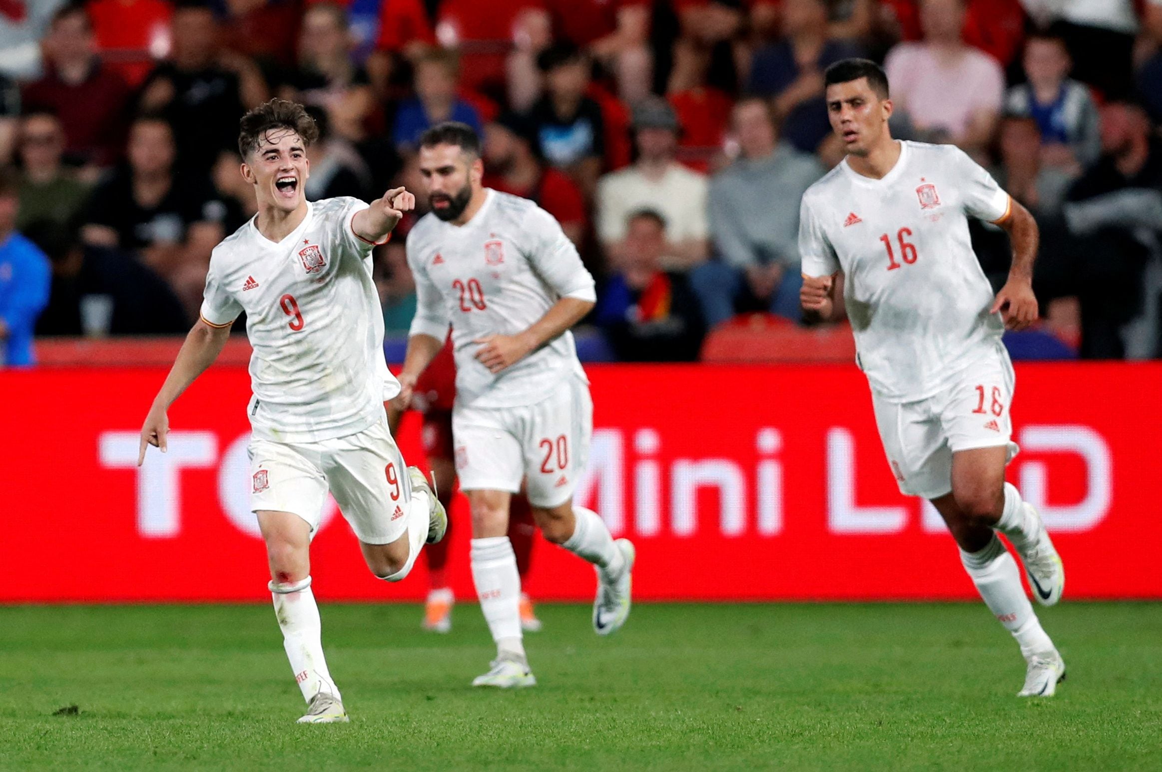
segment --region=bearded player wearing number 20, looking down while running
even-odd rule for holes
[[[400,383],[406,403],[452,326],[452,433],[472,511],[472,577],[496,642],[474,686],[532,686],[521,634],[521,582],[509,499],[526,481],[541,533],[597,570],[598,635],[630,613],[633,546],[614,541],[593,511],[573,506],[593,432],[593,402],[569,327],[596,298],[594,281],[560,224],[526,199],[481,185],[480,140],[442,123],[419,142],[431,214],[408,235],[417,310]]]

